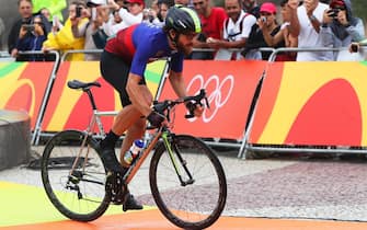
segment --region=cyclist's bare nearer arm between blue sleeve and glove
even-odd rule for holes
[[[126,91],[129,95],[131,104],[136,106],[144,116],[148,116],[151,113],[150,105],[152,95],[149,90],[144,90],[147,88],[139,85],[141,78],[141,76],[130,72],[127,79]]]

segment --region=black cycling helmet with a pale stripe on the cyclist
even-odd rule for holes
[[[165,18],[165,28],[173,28],[179,33],[200,33],[200,20],[196,12],[183,5],[174,5],[169,9]]]

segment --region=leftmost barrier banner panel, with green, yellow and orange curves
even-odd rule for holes
[[[24,111],[34,129],[54,62],[0,62],[0,108]]]

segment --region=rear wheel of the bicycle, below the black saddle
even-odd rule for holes
[[[96,141],[88,136],[84,148],[80,148],[85,135],[79,130],[60,131],[46,143],[42,157],[42,181],[49,200],[64,216],[78,221],[95,220],[111,200]],[[83,153],[76,162],[80,150]],[[69,176],[74,162],[76,170]]]

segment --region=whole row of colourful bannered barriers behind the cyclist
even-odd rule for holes
[[[170,83],[161,80],[165,64],[149,64],[146,71],[158,100],[176,99]],[[185,107],[177,107],[173,130],[236,139],[242,145],[239,156],[243,150],[284,151],[284,147],[293,151],[354,147],[365,153],[366,68],[366,61],[185,60],[187,94],[206,89],[210,108],[199,118],[185,119]],[[84,129],[92,110],[82,92],[67,88],[73,79],[102,84],[92,90],[101,111],[121,108],[119,96],[102,79],[98,61],[2,61],[0,108],[27,112],[34,137]],[[102,119],[110,129],[113,117]]]

